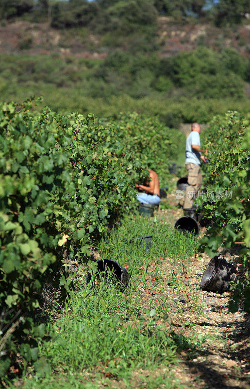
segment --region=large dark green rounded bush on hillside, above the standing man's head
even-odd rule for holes
[[[218,54],[202,47],[163,59],[160,73],[184,92],[188,91],[189,96],[241,98],[247,61],[233,50]]]

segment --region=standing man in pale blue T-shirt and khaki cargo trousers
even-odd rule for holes
[[[206,163],[207,159],[201,155],[200,151],[200,124],[193,123],[192,131],[186,140],[185,167],[188,171],[188,177],[185,200],[183,204],[183,211],[185,214],[192,211],[193,201],[202,184],[200,160]]]

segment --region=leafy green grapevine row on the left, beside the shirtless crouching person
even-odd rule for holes
[[[84,259],[143,177],[142,163],[93,115],[31,107],[0,106],[1,377],[17,352],[37,358],[33,335],[45,326],[33,324],[33,311],[45,281],[68,288],[63,251]]]

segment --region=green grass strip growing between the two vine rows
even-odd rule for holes
[[[150,234],[150,250],[125,241]],[[49,364],[40,370],[45,377],[36,374],[26,379],[24,388],[78,388],[79,382],[84,382],[84,388],[95,388],[98,382],[104,385],[106,381],[112,387],[112,377],[124,388],[132,388],[134,371],[156,371],[175,363],[181,350],[192,350],[191,338],[177,336],[169,331],[169,325],[166,327],[167,297],[145,305],[143,296],[150,286],[148,273],[155,272],[156,277],[163,274],[163,257],[171,258],[184,271],[197,246],[197,238],[184,236],[156,218],[127,217],[122,226],[102,239],[99,248],[102,258],[116,260],[128,269],[130,284],[120,288],[108,277],[100,278],[99,286],[86,286],[86,266],[82,265],[66,306],[57,311],[56,320],[51,316],[47,327],[50,340],[40,345],[40,354]],[[174,273],[172,278],[172,287],[177,287]],[[147,388],[181,388],[169,372],[165,378],[162,374],[152,377],[144,379]]]

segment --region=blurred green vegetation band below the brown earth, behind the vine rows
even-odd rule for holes
[[[57,112],[99,116],[136,110],[167,126],[208,122],[227,109],[248,111],[249,61],[233,49],[196,49],[169,58],[158,53],[110,53],[104,60],[49,55],[1,56],[2,99],[42,94]]]

